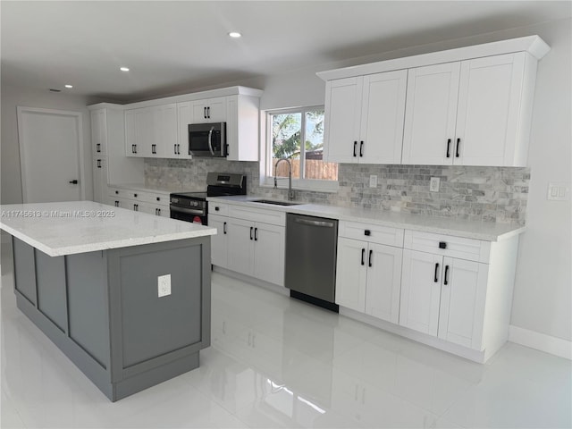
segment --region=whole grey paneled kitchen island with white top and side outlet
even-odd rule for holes
[[[91,201],[0,211],[18,308],[110,400],[198,367],[215,229]]]

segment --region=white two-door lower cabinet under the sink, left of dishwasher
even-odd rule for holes
[[[223,209],[226,211],[226,206]],[[286,235],[283,213],[277,216],[275,211],[245,206],[230,206],[228,210],[234,215],[210,214],[208,218],[209,226],[217,229],[211,240],[213,265],[283,286]],[[279,224],[254,220],[259,218],[275,218]]]

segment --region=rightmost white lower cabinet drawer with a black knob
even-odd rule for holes
[[[491,243],[453,235],[405,230],[403,247],[488,264]]]

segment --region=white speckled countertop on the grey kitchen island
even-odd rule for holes
[[[93,201],[0,206],[0,229],[51,257],[216,234],[215,228]]]

